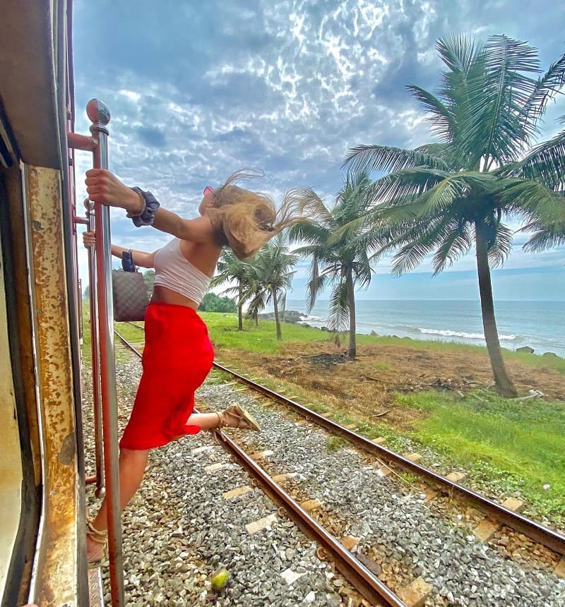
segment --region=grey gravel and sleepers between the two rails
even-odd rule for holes
[[[478,541],[463,522],[444,521],[424,503],[424,495],[398,491],[359,453],[328,450],[328,434],[266,410],[247,392],[203,386],[201,399],[220,407],[237,399],[256,415],[261,433],[242,440],[251,451],[273,450],[269,465],[294,472],[326,510],[349,522],[343,529],[361,538],[356,551],[385,561],[381,579],[423,577],[434,590],[429,606],[558,607],[565,605],[565,580],[545,570],[521,566]],[[386,559],[392,560],[388,572]],[[398,590],[398,589],[397,589]]]

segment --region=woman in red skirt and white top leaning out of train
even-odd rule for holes
[[[158,251],[132,253],[136,265],[155,268],[155,286],[145,314],[143,374],[119,443],[121,510],[141,486],[150,449],[222,426],[259,430],[255,419],[239,404],[216,413],[192,412],[194,392],[208,375],[214,357],[208,330],[196,310],[222,248],[230,247],[241,260],[252,258],[275,234],[302,220],[292,197],[277,212],[265,194],[234,185],[253,176],[254,172],[239,172],[216,190],[206,187],[199,217],[186,220],[160,206],[152,193],[129,188],[108,171],[91,169],[86,173],[90,200],[123,208],[136,227],[152,225],[174,236]],[[85,246],[92,246],[95,234],[85,232],[83,240]],[[112,245],[112,255],[121,258],[124,251]],[[91,565],[104,555],[106,530],[104,500],[88,522]]]

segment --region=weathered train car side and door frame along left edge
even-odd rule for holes
[[[72,4],[1,4],[0,604],[82,607]]]

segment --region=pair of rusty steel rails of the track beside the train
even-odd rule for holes
[[[119,337],[125,342],[123,337]],[[138,355],[141,355],[138,351],[136,353]],[[465,500],[466,503],[470,503],[473,505],[473,507],[482,510],[482,512],[486,512],[489,515],[490,519],[496,520],[496,522],[504,524],[506,525],[506,527],[511,527],[511,529],[516,529],[516,531],[518,531],[520,534],[527,535],[528,537],[534,539],[536,542],[540,542],[545,546],[548,546],[552,549],[552,551],[555,551],[559,554],[563,554],[565,539],[557,532],[542,527],[540,524],[537,524],[536,522],[530,521],[529,519],[522,517],[517,512],[513,512],[507,507],[486,500],[485,498],[482,498],[482,496],[469,491],[463,486],[458,485],[458,483],[449,481],[448,479],[439,476],[433,471],[425,469],[419,464],[413,462],[408,457],[400,456],[386,449],[385,447],[382,447],[381,445],[372,443],[371,441],[367,440],[366,438],[360,435],[357,435],[349,429],[343,428],[343,426],[340,426],[331,420],[319,416],[314,411],[311,411],[306,407],[302,407],[302,405],[293,401],[292,399],[288,399],[284,395],[280,395],[276,392],[273,392],[272,390],[268,390],[267,388],[258,385],[254,381],[249,380],[248,378],[244,378],[243,375],[239,373],[234,373],[234,371],[231,371],[230,369],[226,368],[225,366],[219,363],[215,365],[215,368],[218,369],[218,371],[221,371],[222,373],[229,373],[230,376],[235,378],[239,383],[243,383],[244,385],[256,392],[260,392],[268,399],[275,399],[277,402],[285,404],[285,406],[292,407],[294,411],[296,411],[299,415],[303,416],[304,419],[306,419],[307,421],[314,423],[317,426],[322,426],[331,433],[340,435],[343,438],[347,438],[347,441],[355,445],[355,447],[359,448],[360,450],[363,450],[371,457],[378,459],[379,462],[383,462],[381,469],[390,469],[391,467],[407,469],[412,474],[415,474],[420,478],[425,479],[429,485],[433,484],[438,493],[448,494],[452,497],[457,497],[459,500]],[[357,558],[353,557],[350,551],[344,548],[342,543],[343,537],[341,538],[341,541],[339,541],[338,539],[333,537],[332,534],[328,534],[327,531],[325,532],[319,522],[317,522],[314,517],[310,516],[309,513],[304,510],[304,508],[301,508],[299,506],[299,502],[302,503],[316,500],[293,499],[283,488],[278,485],[278,483],[273,481],[273,479],[267,474],[264,469],[257,466],[256,455],[251,457],[250,455],[242,453],[242,450],[239,445],[237,445],[237,443],[234,443],[234,441],[230,439],[225,433],[218,433],[218,440],[222,445],[227,448],[227,450],[232,453],[232,456],[234,458],[237,458],[238,462],[240,462],[244,467],[246,467],[246,469],[248,469],[249,474],[251,474],[254,479],[258,479],[258,482],[260,482],[261,486],[263,487],[263,491],[268,493],[268,495],[270,495],[270,497],[273,498],[276,503],[285,506],[287,512],[289,513],[289,516],[294,519],[297,524],[299,524],[299,527],[302,527],[302,529],[307,531],[307,534],[311,536],[316,536],[316,541],[318,541],[319,545],[323,547],[323,551],[324,553],[326,553],[328,558],[335,560],[336,564],[338,563],[338,559],[345,559],[338,564],[338,568],[344,573],[345,577],[349,579],[350,583],[355,588],[357,588],[359,593],[362,594],[362,596],[364,596],[367,601],[369,601],[369,604],[404,604],[398,596],[393,594],[387,587],[384,587],[382,582],[379,580],[379,577],[374,574],[376,568],[378,569],[379,567],[378,565],[376,565],[374,560],[371,560],[371,558],[367,558],[367,556],[363,556],[363,553],[358,553]],[[275,476],[277,474],[276,464],[273,464],[273,467],[273,476]],[[383,476],[386,476],[386,474],[383,474]],[[301,492],[299,491],[298,493],[300,494]],[[331,520],[332,515],[328,515],[328,512],[324,512],[323,518],[325,520]],[[340,522],[338,521],[337,523],[334,523],[333,527],[341,527],[342,529],[345,529],[345,527],[347,527],[347,524],[340,524]],[[364,552],[366,554],[371,554],[371,550],[366,549]],[[359,556],[361,556],[362,558],[359,559]],[[412,579],[412,584],[414,582],[417,582],[417,580]],[[405,586],[409,587],[410,584],[405,584]],[[398,584],[395,587],[398,588]],[[402,596],[410,596],[410,593],[407,594],[406,592],[399,592],[399,594],[401,594]],[[377,600],[380,602],[377,603]],[[427,604],[441,603],[432,602]]]

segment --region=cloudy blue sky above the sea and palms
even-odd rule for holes
[[[196,214],[204,186],[242,167],[266,178],[256,188],[280,200],[311,186],[331,205],[340,166],[359,143],[415,147],[431,140],[405,90],[434,90],[438,37],[506,34],[540,49],[542,66],[565,51],[565,9],[528,0],[75,0],[76,130],[84,108],[111,113],[110,168],[126,184],[153,191],[167,208]],[[559,131],[565,100],[551,104],[543,135]],[[78,159],[77,181],[90,158]],[[83,191],[84,193],[84,191]],[[112,211],[112,241],[153,251],[167,235],[136,229]],[[518,235],[498,299],[565,299],[565,248],[525,254]],[[79,254],[86,279],[85,254]],[[307,278],[302,263],[292,299]],[[472,255],[432,280],[430,265],[400,279],[388,261],[365,299],[474,299]]]

